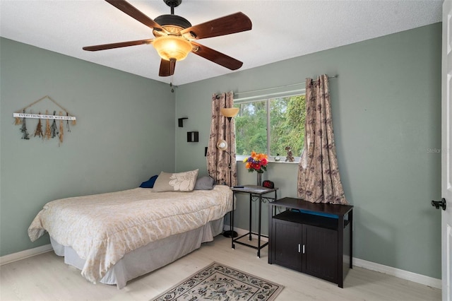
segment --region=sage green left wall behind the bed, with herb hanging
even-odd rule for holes
[[[27,234],[48,201],[131,189],[174,170],[175,102],[167,84],[4,38],[0,53],[1,256],[49,243]],[[44,95],[77,117],[61,146],[57,138],[23,140],[13,124],[13,112]],[[59,112],[49,100],[31,109]],[[37,119],[27,125],[32,135]]]

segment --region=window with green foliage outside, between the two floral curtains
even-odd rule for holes
[[[234,100],[239,114],[234,117],[237,156],[255,151],[269,157],[285,157],[289,146],[297,159],[303,151],[305,95]]]

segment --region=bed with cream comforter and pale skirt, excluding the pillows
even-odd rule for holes
[[[35,241],[48,232],[54,252],[88,281],[123,288],[213,240],[231,208],[232,191],[225,185],[192,191],[138,187],[51,201],[28,235]]]

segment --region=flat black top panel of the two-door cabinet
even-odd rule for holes
[[[306,211],[314,211],[321,213],[334,214],[336,216],[345,216],[352,211],[351,205],[339,205],[333,203],[311,203],[302,199],[283,198],[269,203],[271,206],[284,206],[287,208],[303,209]]]

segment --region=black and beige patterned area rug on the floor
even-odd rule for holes
[[[271,301],[283,288],[283,285],[213,262],[151,301]]]

